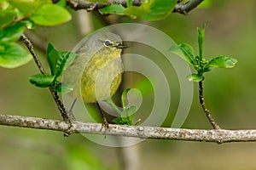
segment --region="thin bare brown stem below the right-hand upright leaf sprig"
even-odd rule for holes
[[[203,109],[203,111],[206,113],[207,119],[208,121],[212,124],[212,127],[216,130],[220,129],[220,127],[218,127],[218,124],[216,122],[214,122],[214,119],[212,118],[212,115],[210,114],[210,111],[207,110],[206,105],[205,105],[205,99],[204,99],[204,94],[203,94],[203,80],[202,79],[199,82],[199,100],[200,100],[200,105]]]

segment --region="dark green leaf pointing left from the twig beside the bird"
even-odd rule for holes
[[[29,82],[39,88],[48,88],[54,80],[55,77],[48,74],[37,74],[29,77]]]

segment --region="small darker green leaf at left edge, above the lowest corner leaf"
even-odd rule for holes
[[[19,40],[24,29],[25,23],[19,23],[14,26],[3,28],[0,32],[0,42],[15,42]]]

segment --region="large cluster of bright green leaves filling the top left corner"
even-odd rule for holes
[[[66,1],[53,4],[50,0],[0,1],[0,66],[15,68],[32,59],[20,44],[16,43],[26,28],[56,26],[71,20]]]

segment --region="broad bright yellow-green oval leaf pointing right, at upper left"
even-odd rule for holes
[[[71,20],[66,8],[55,4],[45,4],[32,15],[31,20],[40,26],[56,26]]]

